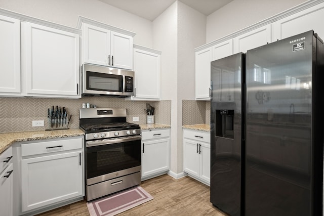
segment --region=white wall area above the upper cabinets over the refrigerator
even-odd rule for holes
[[[305,0],[234,0],[207,17],[206,42],[253,25]]]

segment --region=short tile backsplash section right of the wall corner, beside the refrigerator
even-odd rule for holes
[[[210,124],[210,101],[182,101],[182,125]]]

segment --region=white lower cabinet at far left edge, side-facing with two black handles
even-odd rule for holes
[[[0,155],[0,216],[13,215],[12,149]]]

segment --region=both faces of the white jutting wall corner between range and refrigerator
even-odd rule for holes
[[[171,171],[183,172],[182,100],[194,100],[194,51],[205,42],[206,16],[176,1],[153,21],[154,49],[162,51],[161,98],[171,100]]]

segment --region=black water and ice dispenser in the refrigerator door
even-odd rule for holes
[[[234,110],[216,110],[216,136],[234,139]]]

